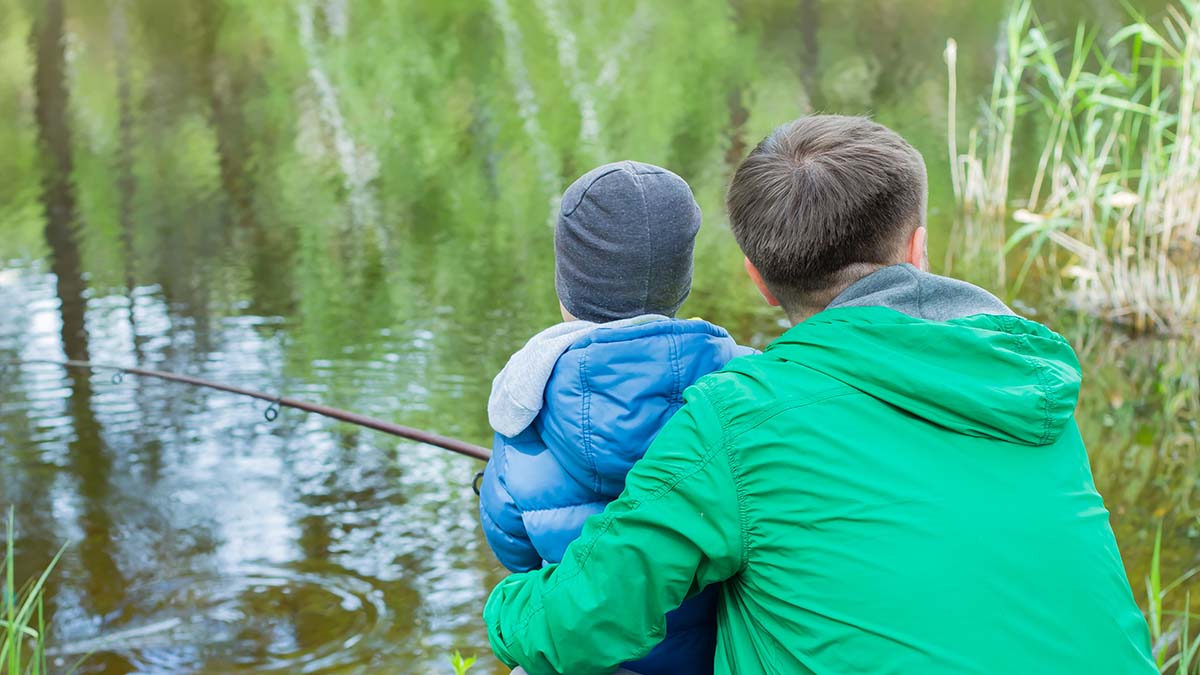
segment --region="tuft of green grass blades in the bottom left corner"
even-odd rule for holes
[[[42,591],[50,572],[62,557],[64,549],[42,571],[41,575],[18,589],[16,556],[13,554],[13,510],[8,509],[5,531],[4,597],[0,598],[0,675],[44,675],[46,621]]]

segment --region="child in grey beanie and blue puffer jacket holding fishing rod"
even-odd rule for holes
[[[700,207],[652,165],[595,168],[563,195],[554,287],[564,323],[535,335],[492,383],[494,454],[480,516],[512,572],[559,562],[583,521],[683,405],[683,390],[743,351],[704,321],[671,318],[691,288]],[[667,637],[628,667],[712,673],[715,589],[667,616]]]

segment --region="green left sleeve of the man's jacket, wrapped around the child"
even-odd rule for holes
[[[716,413],[697,388],[625,490],[559,565],[503,580],[484,609],[496,656],[532,675],[612,673],[666,634],[665,615],[744,565],[744,518]]]

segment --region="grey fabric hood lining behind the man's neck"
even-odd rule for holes
[[[1000,298],[978,286],[920,271],[905,263],[886,267],[841,292],[827,309],[888,307],[925,321],[950,321],[977,313],[1008,315]]]

